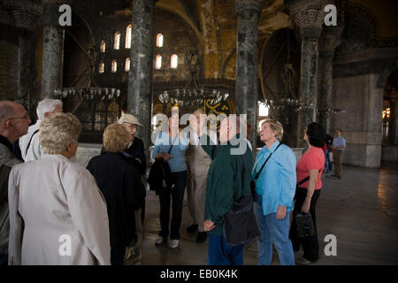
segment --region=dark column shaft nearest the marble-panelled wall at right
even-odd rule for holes
[[[325,27],[319,45],[318,120],[327,134],[332,134],[333,57],[334,50],[341,43],[341,32],[342,27]]]

